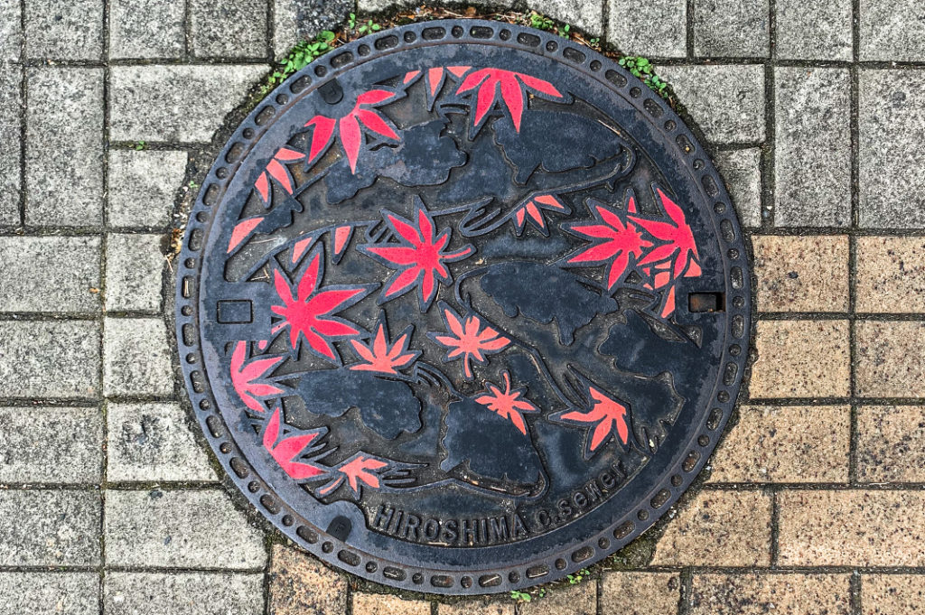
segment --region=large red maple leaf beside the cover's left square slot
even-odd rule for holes
[[[273,327],[273,333],[284,327],[290,327],[292,348],[298,345],[300,336],[316,354],[339,362],[339,356],[331,341],[360,335],[360,329],[350,321],[338,318],[341,310],[363,299],[369,294],[367,286],[330,286],[321,288],[324,252],[319,245],[314,251],[311,262],[302,274],[296,289],[290,287],[286,274],[278,269],[274,271],[274,284],[282,305],[270,309],[282,316],[283,321]]]

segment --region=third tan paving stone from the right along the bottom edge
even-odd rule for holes
[[[601,615],[674,615],[681,599],[675,572],[605,572]]]

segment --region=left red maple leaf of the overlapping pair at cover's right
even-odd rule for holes
[[[628,196],[626,211],[635,212],[632,195]],[[624,223],[619,214],[603,204],[595,204],[591,213],[598,224],[573,223],[566,227],[573,235],[591,240],[593,243],[574,253],[565,264],[607,264],[607,289],[610,290],[620,281],[630,264],[630,257],[637,259],[642,256],[643,249],[650,247],[652,242],[644,240],[632,223]]]

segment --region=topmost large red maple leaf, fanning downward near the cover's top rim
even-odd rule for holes
[[[501,68],[481,68],[469,73],[462,80],[456,93],[462,94],[475,90],[475,88],[478,88],[475,94],[475,115],[473,116],[475,129],[482,124],[488,111],[498,100],[499,94],[517,132],[520,132],[521,117],[526,106],[526,90],[549,100],[562,97],[549,81]]]

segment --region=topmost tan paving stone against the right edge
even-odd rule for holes
[[[857,312],[925,313],[925,238],[857,238]]]

